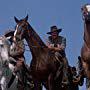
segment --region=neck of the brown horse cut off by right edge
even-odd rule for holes
[[[84,24],[84,39],[88,47],[90,48],[90,21]]]

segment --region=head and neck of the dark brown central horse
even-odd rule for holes
[[[25,39],[27,43],[29,44],[30,48],[33,47],[46,47],[44,42],[41,40],[39,35],[35,32],[35,30],[32,28],[32,26],[29,24],[28,15],[21,20],[18,20],[16,17],[14,17],[17,25],[14,32],[14,41],[20,41]],[[35,50],[35,48],[33,48]]]

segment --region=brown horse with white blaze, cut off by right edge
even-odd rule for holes
[[[84,44],[81,48],[81,59],[86,76],[90,79],[90,5],[82,7],[84,20]]]

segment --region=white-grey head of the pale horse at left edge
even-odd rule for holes
[[[0,59],[3,61],[9,60],[9,42],[8,38],[1,36],[0,37]]]

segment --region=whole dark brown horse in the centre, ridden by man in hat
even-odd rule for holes
[[[48,90],[64,90],[61,88],[61,81],[63,77],[63,71],[60,70],[59,87],[55,83],[55,76],[58,70],[60,62],[55,58],[53,50],[50,50],[45,43],[41,40],[36,31],[28,23],[28,15],[24,19],[18,20],[14,17],[16,22],[15,36],[25,39],[28,43],[32,54],[32,60],[30,63],[30,74],[33,77],[35,84],[35,90],[41,90],[44,84]],[[57,63],[56,63],[57,62]],[[56,89],[57,88],[57,89]],[[65,89],[67,90],[67,89]]]

